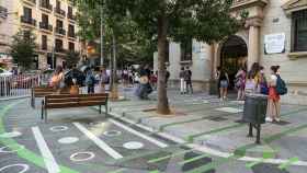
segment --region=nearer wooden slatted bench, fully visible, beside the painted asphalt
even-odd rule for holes
[[[101,114],[101,106],[105,106],[105,114],[107,115],[107,93],[99,94],[53,94],[46,95],[42,101],[42,119],[47,122],[47,109],[53,108],[72,108],[72,107],[88,107],[99,106]]]

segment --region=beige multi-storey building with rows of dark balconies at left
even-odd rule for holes
[[[10,15],[7,15],[11,13]],[[77,8],[71,0],[2,0],[0,2],[0,55],[9,56],[11,37],[19,30],[36,35],[38,69],[65,65],[66,51],[80,51],[76,36]]]

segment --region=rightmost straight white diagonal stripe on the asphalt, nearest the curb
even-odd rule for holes
[[[158,146],[158,147],[160,147],[160,148],[166,148],[166,147],[168,147],[168,145],[166,145],[166,143],[163,143],[163,142],[161,142],[161,141],[159,141],[159,140],[156,140],[155,138],[151,138],[151,137],[149,137],[149,136],[146,136],[146,135],[144,135],[144,134],[140,134],[140,132],[138,132],[138,131],[132,129],[130,127],[127,127],[127,126],[121,124],[121,123],[117,122],[117,120],[110,119],[110,122],[113,123],[114,125],[116,125],[116,126],[118,126],[118,127],[121,127],[121,128],[123,128],[123,129],[125,129],[125,130],[127,130],[127,131],[129,131],[129,132],[132,132],[132,134],[134,134],[134,135],[136,135],[136,136],[138,136],[138,137],[140,137],[140,138],[143,138],[143,139],[146,139],[146,140],[148,140],[148,141],[155,143],[156,146]]]

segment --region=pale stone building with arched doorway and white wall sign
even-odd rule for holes
[[[190,67],[194,89],[216,93],[216,67],[224,68],[232,83],[239,67],[260,62],[269,76],[270,67],[280,65],[289,90],[282,101],[306,105],[307,1],[234,0],[231,13],[238,16],[242,11],[249,14],[245,27],[219,43],[191,38],[191,43],[168,44],[170,84],[178,88],[181,67]],[[155,54],[155,70],[157,61]]]

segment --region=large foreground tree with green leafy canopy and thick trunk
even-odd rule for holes
[[[167,41],[196,41],[212,44],[235,34],[242,21],[232,16],[232,0],[77,0],[92,7],[103,7],[106,19],[121,23],[130,19],[135,30],[158,45],[158,106],[157,112],[169,114],[166,83]],[[118,27],[120,31],[124,30]],[[117,31],[116,31],[117,32]]]

